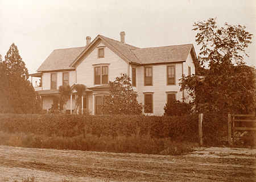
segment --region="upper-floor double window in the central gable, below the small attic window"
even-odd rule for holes
[[[109,83],[109,67],[96,66],[94,67],[94,84],[108,84]]]

